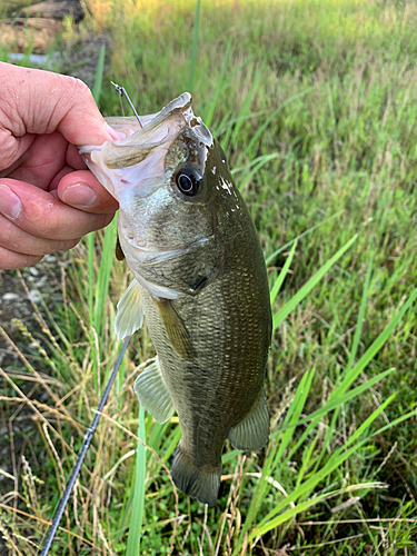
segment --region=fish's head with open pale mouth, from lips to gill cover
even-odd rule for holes
[[[157,258],[167,262],[188,251],[190,272],[214,277],[225,242],[241,231],[239,212],[247,210],[225,153],[193,115],[188,92],[157,115],[140,118],[142,128],[131,118],[120,126],[125,138],[80,148],[88,167],[119,202],[119,240],[128,266],[140,281],[145,261],[152,264],[155,275],[148,278],[155,281],[160,279]],[[179,278],[180,260],[183,257],[165,270],[169,268],[172,280],[178,276],[177,285],[186,280]],[[171,290],[165,294],[175,297]]]

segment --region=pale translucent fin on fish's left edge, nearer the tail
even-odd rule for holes
[[[173,413],[171,396],[165,384],[158,358],[148,365],[135,380],[133,390],[139,404],[158,423],[166,423]]]

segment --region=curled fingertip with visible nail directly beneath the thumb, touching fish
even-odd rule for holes
[[[63,176],[58,185],[58,197],[67,205],[87,212],[115,212],[119,206],[89,170]]]

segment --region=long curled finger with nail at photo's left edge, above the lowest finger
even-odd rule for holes
[[[22,230],[44,239],[77,239],[103,228],[113,214],[95,215],[72,208],[38,187],[4,178],[0,212]]]

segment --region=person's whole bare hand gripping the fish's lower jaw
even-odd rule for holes
[[[115,139],[88,87],[0,62],[0,269],[34,265],[107,226],[116,200],[76,146]]]

